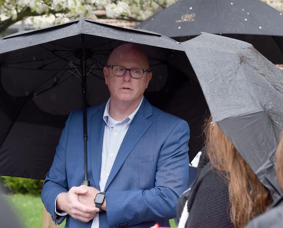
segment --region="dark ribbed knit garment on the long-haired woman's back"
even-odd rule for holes
[[[178,201],[177,219],[180,227],[183,224],[180,222],[183,210],[189,212],[187,218],[186,213],[182,217],[182,220],[184,217],[186,219],[185,227],[234,227],[230,219],[227,181],[210,162]]]

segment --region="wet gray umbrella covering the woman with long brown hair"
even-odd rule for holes
[[[213,120],[276,199],[283,71],[246,42],[204,33],[183,42]]]

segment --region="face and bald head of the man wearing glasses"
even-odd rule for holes
[[[149,70],[147,57],[132,44],[116,48],[109,57],[108,66],[110,65]],[[122,103],[139,102],[152,77],[152,73],[146,71],[142,78],[133,78],[129,70],[123,76],[116,76],[113,75],[111,67],[104,67],[103,73],[111,101]]]

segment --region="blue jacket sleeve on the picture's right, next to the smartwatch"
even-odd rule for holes
[[[185,191],[188,181],[189,138],[188,124],[180,120],[159,153],[154,188],[106,192],[106,213],[110,227],[125,223],[131,226],[176,216],[178,198]]]

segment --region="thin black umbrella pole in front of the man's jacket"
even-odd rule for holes
[[[90,182],[88,181],[88,160],[87,160],[87,125],[86,125],[86,76],[85,76],[85,37],[82,34],[82,53],[80,58],[80,75],[82,80],[82,94],[83,94],[83,141],[84,141],[84,149],[85,149],[85,180],[82,181],[82,185],[90,186]]]

